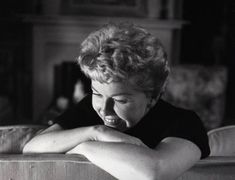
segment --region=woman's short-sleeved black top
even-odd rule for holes
[[[64,129],[103,124],[92,108],[90,95],[57,117],[55,122]],[[174,107],[161,99],[137,125],[125,133],[141,139],[150,148],[156,147],[166,137],[179,137],[196,144],[201,150],[201,158],[210,153],[206,130],[196,113]]]

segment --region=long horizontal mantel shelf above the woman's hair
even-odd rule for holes
[[[25,22],[35,25],[75,25],[75,26],[100,26],[109,21],[129,21],[142,25],[150,29],[181,29],[185,21],[173,19],[156,19],[156,18],[123,18],[123,17],[104,17],[104,16],[60,16],[60,15],[42,15],[42,16],[25,16]]]

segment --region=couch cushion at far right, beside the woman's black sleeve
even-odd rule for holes
[[[210,156],[235,155],[235,125],[216,128],[208,132]]]

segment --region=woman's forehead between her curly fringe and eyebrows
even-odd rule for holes
[[[133,88],[129,81],[100,83],[99,81],[92,80],[91,84],[93,90],[109,96],[116,94],[132,95],[139,93],[139,91]]]

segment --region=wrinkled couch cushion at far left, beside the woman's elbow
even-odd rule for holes
[[[22,153],[24,145],[43,128],[40,125],[0,126],[0,153]]]

